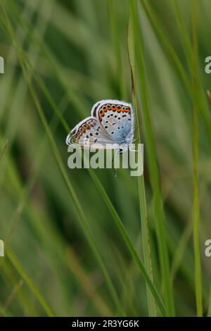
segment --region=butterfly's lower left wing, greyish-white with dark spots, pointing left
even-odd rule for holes
[[[106,144],[113,144],[106,130],[98,123],[94,117],[88,117],[78,123],[68,135],[66,144],[74,146],[79,144],[84,149],[95,148],[105,149]]]

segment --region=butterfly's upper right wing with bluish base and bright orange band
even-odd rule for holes
[[[94,105],[91,115],[98,120],[110,139],[117,144],[131,143],[134,137],[134,110],[119,100],[102,100]]]

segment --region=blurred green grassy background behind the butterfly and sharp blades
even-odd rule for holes
[[[166,306],[140,81],[148,90],[175,313],[196,316],[194,270],[200,269],[193,224],[195,219],[197,237],[198,219],[203,314],[209,314],[211,258],[205,256],[205,240],[211,239],[211,120],[206,90],[211,87],[204,68],[205,57],[211,56],[210,0],[0,2],[0,56],[5,60],[0,75],[0,238],[6,244],[0,260],[1,316],[149,314],[145,277],[115,223],[118,219],[124,225],[143,261],[138,179],[129,170],[120,170],[117,177],[110,169],[70,170],[65,145],[68,130],[89,116],[96,101],[132,102],[129,14],[135,48],[141,45],[136,68],[141,50],[146,78],[134,69],[139,130],[146,146],[153,282]],[[160,316],[157,304],[155,314]]]

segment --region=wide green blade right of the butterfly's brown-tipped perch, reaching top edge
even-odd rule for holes
[[[165,215],[162,206],[162,195],[160,192],[160,180],[158,172],[158,160],[155,149],[155,142],[153,138],[153,127],[151,123],[150,106],[148,102],[148,88],[146,82],[146,72],[144,68],[143,60],[143,46],[141,35],[137,33],[139,31],[139,23],[137,16],[136,1],[131,1],[131,13],[132,20],[136,30],[136,63],[139,82],[139,91],[142,101],[142,113],[143,124],[146,132],[146,149],[148,154],[148,165],[151,178],[151,186],[153,189],[153,205],[155,214],[156,232],[158,237],[158,247],[160,256],[160,265],[162,272],[163,288],[165,292],[165,304],[167,306],[167,315],[174,316],[174,297],[172,291],[172,280],[170,276],[170,262],[166,244],[166,232],[165,232]]]

